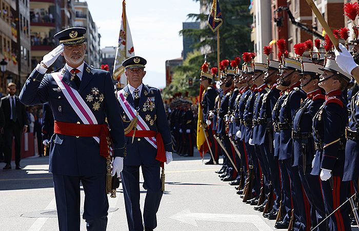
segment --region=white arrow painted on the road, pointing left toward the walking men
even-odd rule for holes
[[[251,223],[260,231],[273,231],[266,222],[258,215],[239,215],[239,214],[203,214],[191,213],[189,209],[185,209],[172,217],[171,219],[181,221],[195,227],[198,227],[198,221],[218,221],[218,222],[240,222]]]

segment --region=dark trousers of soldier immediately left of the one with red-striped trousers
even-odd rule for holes
[[[322,188],[319,176],[313,176],[310,174],[312,171],[310,166],[307,166],[306,174],[304,174],[303,167],[298,166],[299,176],[301,178],[303,188],[309,203],[310,207],[310,214],[311,214],[311,224],[314,228],[317,224],[321,223],[325,215],[325,207],[324,201],[322,196]],[[326,231],[328,230],[327,222],[323,222],[320,226],[318,226],[315,230],[317,231]]]

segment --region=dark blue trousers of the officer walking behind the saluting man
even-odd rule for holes
[[[161,180],[159,176],[159,162],[141,165],[147,194],[144,206],[144,223],[148,228],[157,227],[156,213],[161,202]],[[121,172],[126,216],[129,230],[143,230],[142,213],[139,207],[139,165],[125,165]]]

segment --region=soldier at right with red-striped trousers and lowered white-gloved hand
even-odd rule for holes
[[[320,175],[326,214],[331,214],[346,201],[348,181],[343,181],[345,162],[345,128],[348,111],[342,91],[346,89],[350,75],[327,58],[321,68],[319,86],[326,92],[325,103],[313,119],[313,137],[316,149],[312,175]],[[351,230],[348,206],[338,209],[329,220],[329,230]]]

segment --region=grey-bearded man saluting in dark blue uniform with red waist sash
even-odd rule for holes
[[[55,120],[55,134],[50,139],[50,169],[53,175],[59,230],[79,230],[80,227],[80,182],[85,192],[83,218],[87,230],[106,230],[108,200],[106,196],[106,172],[108,155],[108,130],[111,130],[114,157],[125,153],[124,127],[121,112],[113,93],[112,78],[108,71],[93,68],[84,62],[86,44],[85,28],[68,28],[54,35],[60,45],[44,56],[27,79],[20,100],[26,105],[49,102]],[[59,55],[65,57],[63,68],[45,74]],[[75,111],[65,91],[57,85],[54,76],[62,79],[63,86],[71,92],[78,92],[74,101],[85,101],[97,124],[85,124],[81,112]],[[72,133],[68,131],[72,129]],[[92,133],[83,129],[90,128]],[[89,130],[89,129],[88,129]],[[102,130],[102,131],[101,131]],[[66,134],[65,134],[66,133]],[[100,137],[99,144],[93,137]],[[104,138],[104,139],[103,139]],[[103,146],[103,144],[105,146]],[[102,156],[100,156],[100,154]]]

